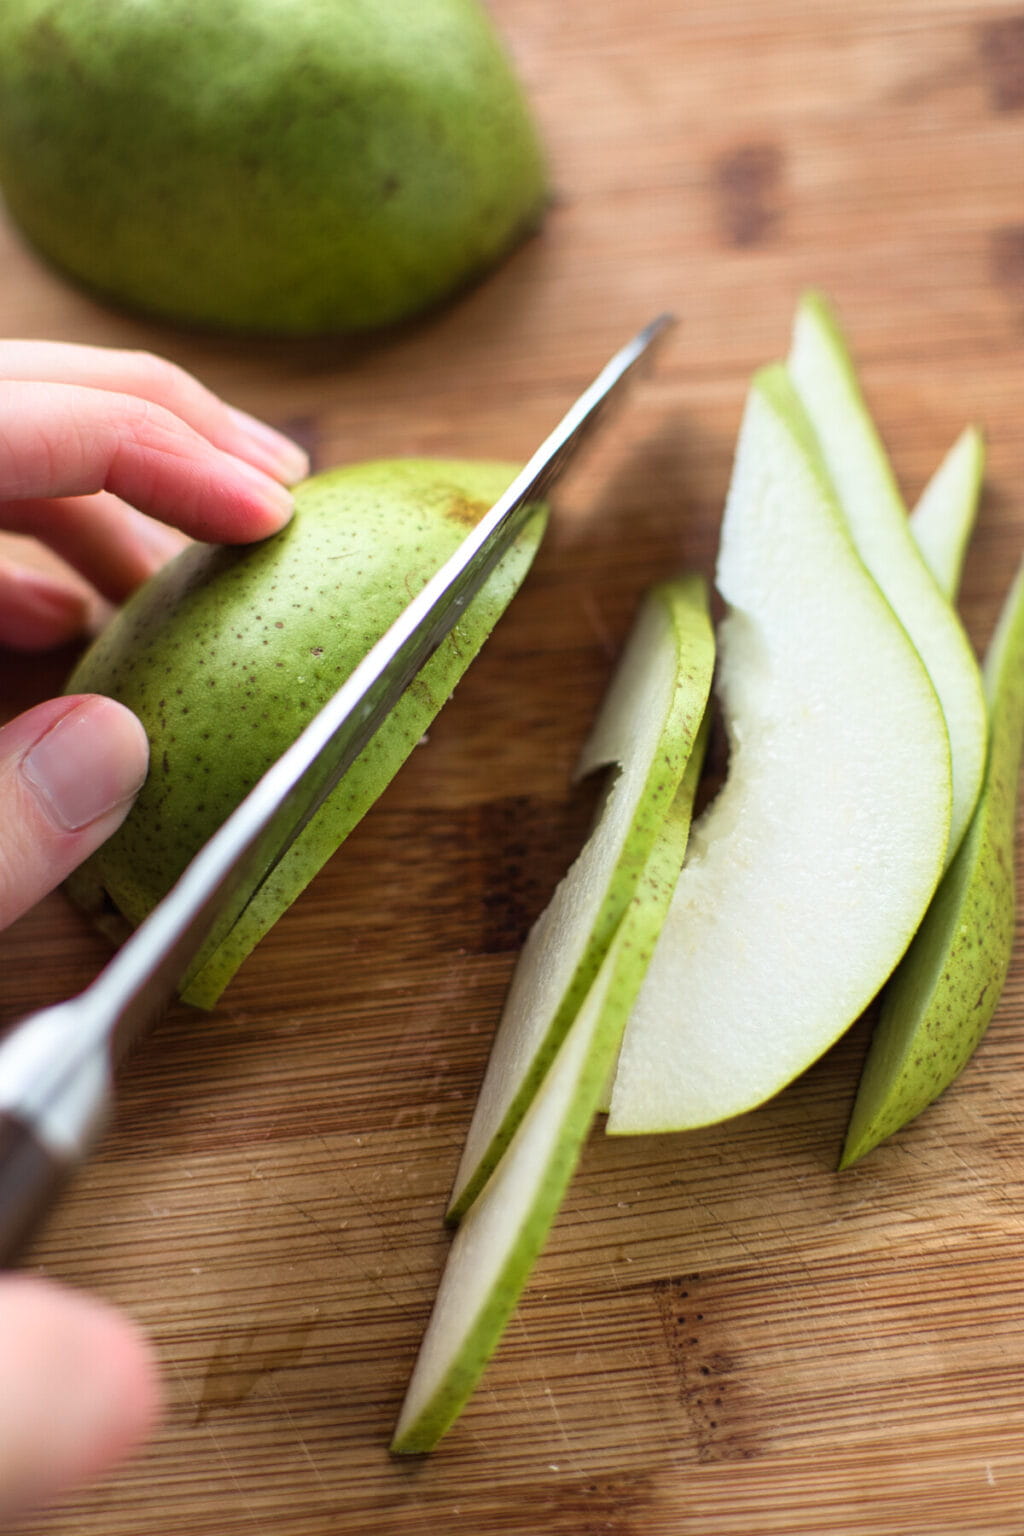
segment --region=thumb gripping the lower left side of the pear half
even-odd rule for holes
[[[141,723],[97,694],[51,699],[0,730],[0,928],[120,826],[147,762]]]

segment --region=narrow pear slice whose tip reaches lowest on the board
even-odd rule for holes
[[[565,1198],[683,860],[705,737],[706,716],[590,991],[490,1180],[462,1217],[395,1430],[395,1452],[433,1450],[454,1422]]]

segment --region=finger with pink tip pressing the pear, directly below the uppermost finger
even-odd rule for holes
[[[163,406],[75,384],[2,382],[0,502],[98,490],[223,542],[266,538],[292,511],[279,481]]]

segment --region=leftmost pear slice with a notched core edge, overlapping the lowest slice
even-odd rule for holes
[[[450,1218],[471,1204],[508,1146],[597,974],[691,759],[712,670],[705,582],[688,576],[652,588],[580,759],[582,774],[611,765],[620,765],[620,773],[519,957],[456,1174]]]

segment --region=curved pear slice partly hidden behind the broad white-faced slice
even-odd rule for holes
[[[910,535],[889,458],[870,419],[843,335],[824,300],[804,296],[789,373],[864,565],[921,653],[943,705],[953,763],[946,863],[967,829],[984,773],[987,716],[964,628]]]

